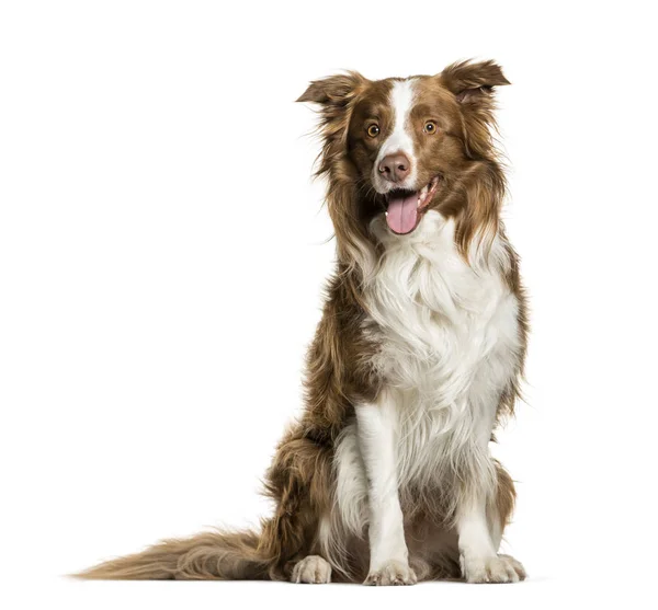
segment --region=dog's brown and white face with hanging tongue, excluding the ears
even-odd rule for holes
[[[411,232],[443,176],[463,165],[460,108],[433,77],[370,83],[350,119],[347,151],[392,231]]]

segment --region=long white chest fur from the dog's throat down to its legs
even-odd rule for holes
[[[468,265],[454,222],[435,211],[402,238],[383,222],[373,229],[385,254],[366,289],[366,327],[398,413],[400,475],[413,479],[422,469],[415,454],[429,442],[488,442],[500,393],[515,375],[519,303],[502,276],[509,263],[499,241],[488,266]]]

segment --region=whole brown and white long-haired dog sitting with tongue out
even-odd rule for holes
[[[526,314],[500,221],[492,61],[313,82],[337,269],[306,405],[266,475],[260,531],[201,533],[87,578],[409,585],[523,579],[498,553],[514,504],[489,452],[519,396]]]

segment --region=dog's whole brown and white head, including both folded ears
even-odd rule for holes
[[[366,237],[377,215],[405,235],[429,209],[463,211],[468,176],[495,163],[491,94],[502,84],[492,61],[454,64],[436,76],[371,81],[349,72],[313,82],[298,101],[320,105],[319,173],[329,177],[339,239]]]

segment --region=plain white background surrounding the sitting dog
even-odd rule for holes
[[[648,2],[3,2],[0,588],[5,608],[649,601],[656,47]],[[532,301],[518,586],[80,583],[254,523],[300,408],[333,244],[307,82],[494,58]],[[300,606],[302,607],[302,606]],[[349,606],[348,606],[349,607]]]

